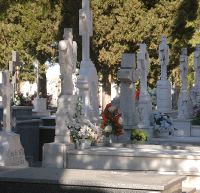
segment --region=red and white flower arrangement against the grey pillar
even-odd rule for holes
[[[110,134],[115,136],[123,134],[122,115],[114,104],[107,104],[101,115],[101,128],[103,129],[103,135],[109,137]]]

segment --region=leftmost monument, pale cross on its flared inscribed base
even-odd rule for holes
[[[3,131],[0,131],[0,166],[27,167],[20,136],[12,132],[11,97],[13,86],[9,81],[9,72],[2,72],[0,95],[3,98]]]

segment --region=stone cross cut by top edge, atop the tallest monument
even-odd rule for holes
[[[79,10],[79,35],[82,36],[82,60],[90,60],[90,37],[93,35],[93,22],[89,0],[82,0],[82,9]]]

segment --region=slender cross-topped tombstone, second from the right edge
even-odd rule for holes
[[[192,117],[192,104],[187,91],[188,56],[187,48],[182,48],[180,55],[181,90],[178,101],[178,119]]]

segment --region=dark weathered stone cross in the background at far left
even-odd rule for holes
[[[20,66],[22,66],[22,62],[20,62],[19,59],[19,52],[12,51],[12,61],[9,62],[9,71],[12,75],[12,84],[15,91],[17,93],[20,92],[20,86],[19,86],[19,70]]]

